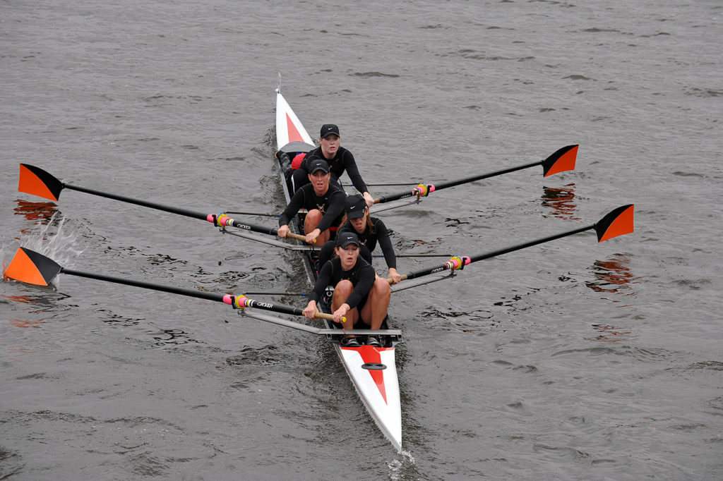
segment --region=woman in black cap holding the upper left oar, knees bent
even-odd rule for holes
[[[302,208],[307,209],[304,219],[304,235],[307,243],[321,245],[329,240],[330,229],[341,222],[344,209],[344,192],[331,183],[329,164],[322,159],[309,162],[309,182],[291,197],[291,201],[278,218],[278,236],[286,238],[288,222]]]

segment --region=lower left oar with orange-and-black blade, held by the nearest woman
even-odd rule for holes
[[[230,304],[234,309],[257,308],[266,311],[280,312],[284,314],[292,314],[294,316],[303,316],[304,310],[292,306],[283,306],[282,304],[260,302],[247,298],[245,295],[217,294],[206,293],[202,291],[182,289],[181,287],[173,287],[168,285],[154,284],[152,282],[143,282],[137,280],[123,279],[122,277],[111,277],[103,274],[94,274],[93,272],[74,271],[61,267],[53,259],[49,259],[43,254],[38,254],[28,248],[20,247],[17,253],[10,261],[9,266],[5,270],[5,275],[20,282],[27,282],[35,285],[48,285],[58,274],[70,274],[72,276],[87,277],[88,279],[102,280],[106,282],[115,282],[116,284],[131,285],[134,287],[142,287],[150,290],[160,290],[163,293],[187,295],[191,298],[215,300],[224,304]],[[334,316],[327,313],[317,312],[315,317],[318,319],[329,319],[333,321]],[[342,319],[345,322],[346,319]]]

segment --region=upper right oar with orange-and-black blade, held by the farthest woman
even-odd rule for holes
[[[517,167],[510,167],[495,172],[484,173],[480,175],[472,175],[471,177],[465,177],[456,181],[449,181],[443,183],[431,184],[431,183],[420,183],[411,191],[400,192],[399,194],[393,194],[390,196],[380,196],[379,199],[375,199],[375,204],[382,202],[391,202],[398,199],[405,199],[406,197],[417,196],[426,197],[434,191],[442,190],[442,188],[459,186],[463,183],[469,183],[474,181],[482,180],[483,178],[495,177],[496,175],[502,175],[505,173],[515,172],[515,170],[522,170],[535,165],[542,165],[542,175],[547,177],[548,175],[565,172],[565,170],[575,169],[575,160],[578,156],[578,145],[568,145],[557,149],[557,152],[547,157],[545,160],[539,160],[538,162],[531,162],[525,165],[518,165]]]

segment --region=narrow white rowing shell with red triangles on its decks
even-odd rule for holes
[[[304,129],[299,118],[296,117],[294,110],[291,110],[286,99],[281,95],[281,88],[276,91],[276,144],[279,151],[286,152],[291,158],[299,153],[315,149],[311,136]],[[288,165],[284,165],[282,160],[277,159],[277,161],[281,172],[281,185],[288,204],[293,195],[291,185],[286,180],[285,170],[288,169]],[[293,224],[296,232],[302,234],[304,225],[303,212],[295,217]],[[289,225],[289,228],[292,228],[292,226]],[[313,268],[316,251],[309,248],[300,252],[309,282],[314,284],[317,276]],[[320,302],[320,307],[322,311],[330,312],[328,298]],[[325,319],[324,322],[328,329],[336,327],[333,321]],[[343,330],[336,330],[339,334],[329,334],[327,336],[328,342],[333,345],[372,419],[375,420],[382,433],[391,441],[393,446],[398,451],[401,451],[401,402],[394,359],[395,346],[402,342],[401,334],[398,331],[389,329],[387,319],[382,324],[382,329],[374,331],[371,329],[354,329],[354,331],[346,329],[347,333],[358,332],[360,340],[364,340],[366,335],[375,334],[382,340],[382,347],[367,345],[345,347],[340,343]]]

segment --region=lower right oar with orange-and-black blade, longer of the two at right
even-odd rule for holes
[[[617,207],[617,209],[609,212],[596,224],[568,230],[566,232],[555,235],[548,235],[547,237],[536,239],[535,241],[521,243],[516,246],[502,248],[498,249],[497,251],[478,254],[476,256],[454,256],[450,260],[445,262],[445,264],[437,265],[435,267],[429,267],[428,269],[419,269],[417,271],[404,274],[402,276],[402,280],[414,279],[415,277],[422,277],[426,276],[427,274],[435,274],[436,272],[442,272],[448,269],[463,269],[467,264],[471,264],[472,262],[482,261],[482,259],[489,259],[490,257],[501,256],[502,254],[507,254],[508,252],[512,251],[519,251],[520,249],[536,246],[537,244],[555,241],[555,239],[567,237],[568,235],[578,234],[590,229],[594,229],[597,233],[598,242],[607,241],[607,239],[612,239],[614,237],[617,237],[618,235],[624,235],[633,232],[633,208],[633,204]],[[392,283],[392,280],[388,279],[388,281],[390,284]]]

